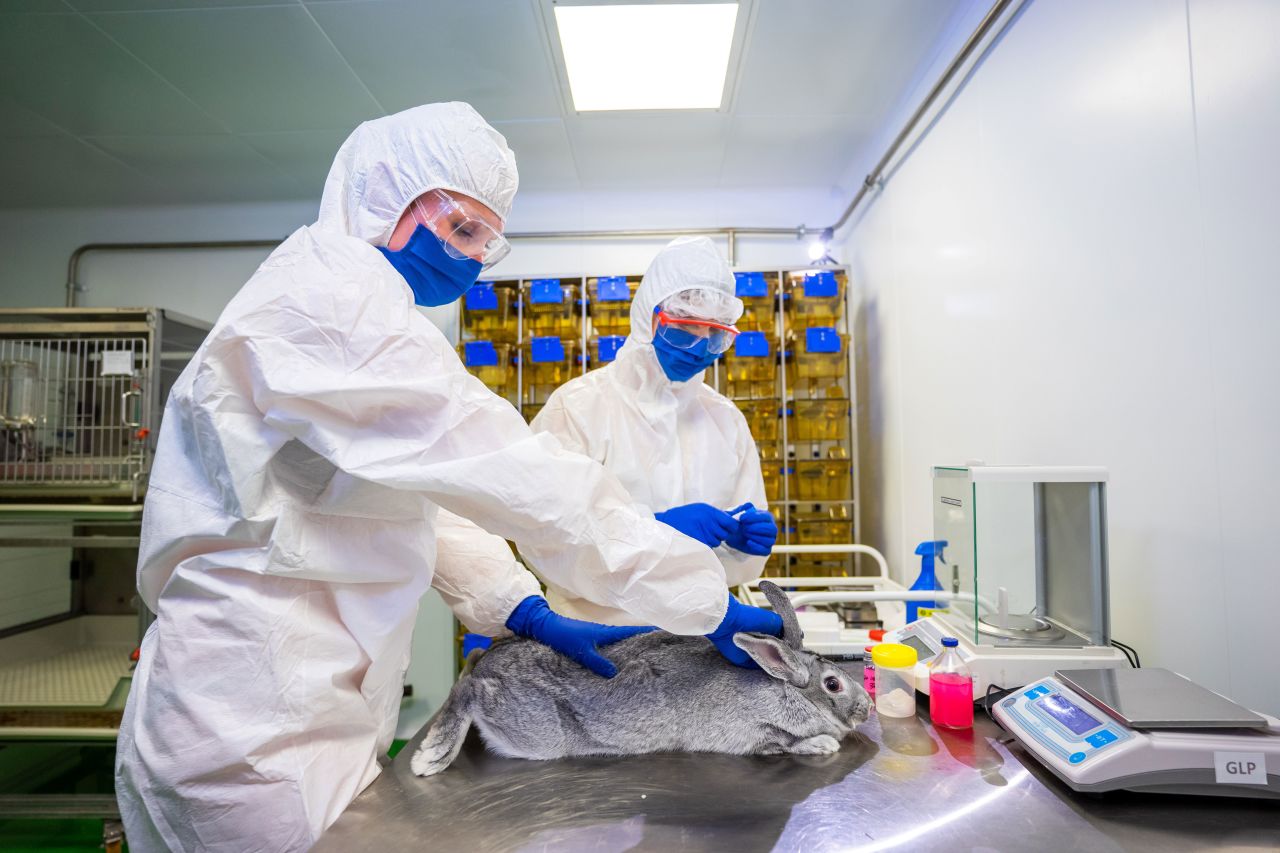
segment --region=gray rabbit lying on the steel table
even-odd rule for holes
[[[760,589],[782,616],[782,639],[733,637],[759,670],[733,666],[701,637],[664,631],[611,646],[612,679],[541,643],[502,640],[453,685],[410,766],[419,776],[448,767],[472,722],[509,758],[836,752],[867,720],[870,698],[849,672],[804,651],[786,593],[767,580]]]

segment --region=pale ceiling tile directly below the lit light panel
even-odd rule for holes
[[[586,190],[714,187],[728,137],[721,113],[581,115],[566,119]]]

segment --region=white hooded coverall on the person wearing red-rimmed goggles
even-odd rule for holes
[[[685,503],[722,510],[750,501],[765,508],[755,439],[742,412],[703,382],[672,382],[653,350],[653,310],[681,291],[721,291],[730,301],[733,274],[707,237],[678,237],[654,257],[631,304],[631,334],[618,357],[557,388],[534,418],[534,430],[590,456],[617,475],[652,512]],[[728,546],[716,548],[728,583],[754,580],[764,557]],[[541,565],[530,560],[539,571]],[[543,573],[545,574],[545,573]],[[612,605],[605,589],[564,589],[547,575],[547,598],[557,612],[611,625],[635,625],[635,615]]]

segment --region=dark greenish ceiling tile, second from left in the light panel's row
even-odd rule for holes
[[[92,20],[234,132],[353,128],[381,114],[301,5]]]

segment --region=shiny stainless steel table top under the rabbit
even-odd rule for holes
[[[977,716],[951,733],[924,702],[916,719],[873,715],[822,758],[518,761],[472,733],[431,779],[408,768],[419,733],[315,850],[1280,849],[1275,803],[1080,795]]]

